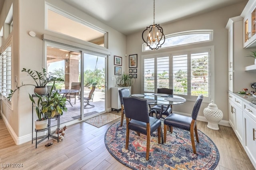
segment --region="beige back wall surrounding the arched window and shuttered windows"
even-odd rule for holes
[[[191,18],[185,18],[169,24],[160,24],[164,30],[164,34],[172,34],[176,32],[184,32],[189,30],[213,30],[213,42],[203,44],[204,46],[214,45],[214,102],[218,105],[218,108],[224,113],[223,120],[228,121],[228,30],[226,30],[226,24],[228,19],[234,16],[239,16],[246,5],[245,2],[221,8],[218,10],[210,11],[206,14],[200,14]],[[150,24],[150,23],[149,23]],[[156,21],[156,24],[157,21]],[[146,26],[145,26],[146,28]],[[177,51],[184,47],[174,47],[170,49],[158,49],[155,51],[143,52],[141,38],[143,30],[127,36],[127,54],[138,54],[138,78],[136,83],[132,86],[133,93],[141,93],[141,55],[149,53],[161,53],[166,51]],[[243,34],[241,32],[241,34]],[[200,47],[202,44],[190,45],[192,47]],[[242,45],[242,42],[241,42]],[[245,58],[246,59],[246,58]],[[126,63],[128,60],[126,59]],[[248,59],[248,65],[250,59]],[[128,73],[128,69],[126,69]],[[244,73],[246,76],[253,76],[253,73]],[[250,82],[244,82],[244,87],[250,89]],[[242,89],[241,89],[242,90]],[[183,105],[173,106],[174,111],[180,113],[191,114],[194,102],[187,101]],[[203,109],[208,106],[208,103],[202,103],[199,116],[203,115]]]

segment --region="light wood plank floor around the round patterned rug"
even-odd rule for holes
[[[119,112],[120,113],[120,112]],[[118,162],[106,149],[104,134],[112,123],[96,128],[84,122],[69,126],[64,140],[44,140],[35,148],[35,143],[26,142],[16,145],[12,140],[2,118],[0,118],[0,169],[6,164],[22,164],[19,169],[70,169],[70,170],[125,170],[130,169]],[[207,123],[197,122],[198,129],[209,136],[220,152],[217,170],[253,170],[234,131],[220,126],[220,130],[207,128]],[[199,139],[200,140],[200,139]],[[54,144],[49,147],[48,142]],[[15,168],[17,169],[17,168]]]

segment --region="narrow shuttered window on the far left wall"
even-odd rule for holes
[[[12,88],[12,41],[9,41],[0,55],[0,93],[8,97]]]

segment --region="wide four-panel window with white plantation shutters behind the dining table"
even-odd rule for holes
[[[157,88],[170,88],[173,93],[186,99],[196,99],[199,94],[211,101],[210,65],[213,61],[213,47],[188,49],[169,55],[142,56],[144,92],[155,93]],[[154,73],[157,73],[156,76]],[[169,76],[170,75],[170,76]]]

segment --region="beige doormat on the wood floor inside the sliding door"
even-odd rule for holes
[[[121,116],[115,115],[113,113],[104,113],[102,115],[98,115],[96,117],[92,117],[90,119],[85,120],[85,123],[89,123],[92,126],[95,126],[97,128],[102,127],[103,125],[106,125],[112,121],[119,120]]]

